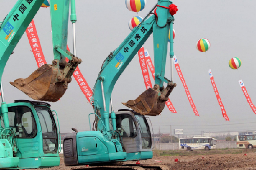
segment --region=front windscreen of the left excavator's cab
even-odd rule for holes
[[[57,153],[58,136],[53,114],[48,107],[35,106],[42,128],[44,153]]]

